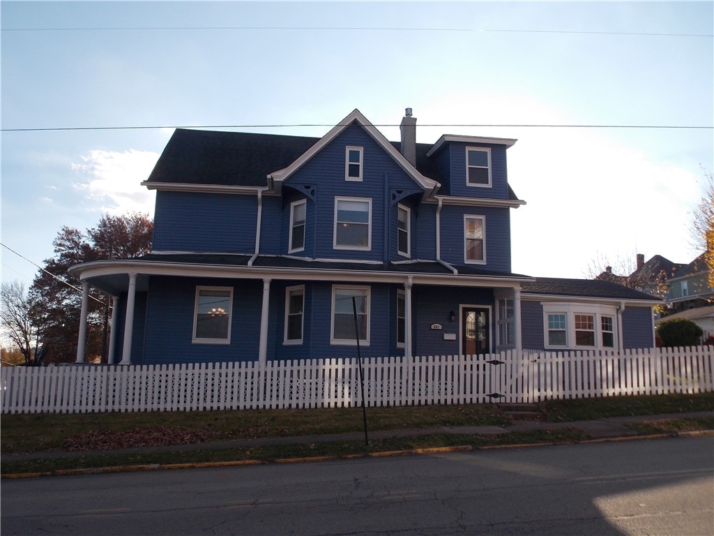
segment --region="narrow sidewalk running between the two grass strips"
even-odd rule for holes
[[[598,420],[575,422],[545,422],[516,421],[508,427],[498,426],[462,426],[436,427],[418,430],[368,430],[368,438],[386,439],[389,437],[409,437],[415,435],[454,434],[454,435],[503,435],[511,432],[531,432],[534,430],[557,430],[560,428],[576,428],[582,430],[590,440],[608,440],[615,438],[635,437],[638,432],[630,430],[626,425],[633,422],[651,422],[656,420],[686,419],[692,417],[714,417],[714,411],[670,413],[664,415],[638,415],[632,417],[608,417]],[[368,423],[369,425],[369,423]],[[249,440],[223,440],[216,442],[192,443],[188,445],[162,445],[158,447],[134,447],[119,450],[102,450],[103,455],[141,454],[146,452],[176,452],[188,450],[219,450],[235,447],[253,447],[259,445],[299,445],[332,441],[362,441],[364,432],[348,432],[334,435],[309,435],[296,437],[260,437]],[[4,460],[46,460],[62,457],[82,457],[96,455],[96,451],[52,451],[33,452],[31,454],[4,455]]]

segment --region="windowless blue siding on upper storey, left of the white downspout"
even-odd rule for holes
[[[230,252],[255,249],[256,195],[156,192],[157,251]]]

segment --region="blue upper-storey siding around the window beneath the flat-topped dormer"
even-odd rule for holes
[[[464,260],[464,222],[466,214],[485,217],[486,264],[473,264],[498,272],[511,272],[511,213],[501,207],[458,207],[441,209],[441,259],[451,264]]]

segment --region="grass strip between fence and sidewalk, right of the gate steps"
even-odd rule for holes
[[[713,411],[714,392],[548,400],[543,407],[550,422]]]

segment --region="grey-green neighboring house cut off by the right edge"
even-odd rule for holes
[[[689,319],[704,331],[704,339],[714,335],[714,289],[701,254],[668,279],[667,309],[657,323],[673,318]]]

